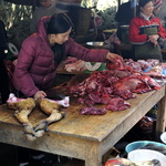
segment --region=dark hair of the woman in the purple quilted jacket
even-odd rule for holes
[[[53,14],[48,22],[48,34],[58,34],[69,31],[73,27],[71,19],[65,13]]]

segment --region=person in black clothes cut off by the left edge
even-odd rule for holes
[[[1,12],[2,10],[0,7],[0,15],[1,15]],[[4,29],[3,21],[0,20],[0,94],[1,94],[2,103],[6,103],[10,93],[8,73],[3,64],[3,61],[7,59],[7,54],[8,54],[7,31]]]

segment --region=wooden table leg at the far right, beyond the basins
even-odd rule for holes
[[[166,127],[166,96],[157,104],[157,122],[156,122],[156,139],[160,141],[159,136],[165,132]]]

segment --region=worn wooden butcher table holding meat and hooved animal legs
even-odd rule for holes
[[[132,107],[125,111],[111,112],[105,115],[80,115],[83,106],[71,100],[71,106],[63,108],[65,117],[50,125],[44,136],[34,142],[27,141],[22,125],[15,120],[14,112],[0,106],[0,142],[22,146],[52,154],[80,158],[85,166],[102,166],[102,156],[113,147],[156,103],[157,137],[165,129],[166,121],[166,85],[162,90],[137,94],[129,100]],[[104,107],[104,105],[98,105]],[[35,124],[46,117],[39,108],[34,108],[30,121]]]

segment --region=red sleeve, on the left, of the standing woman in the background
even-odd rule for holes
[[[129,30],[128,30],[128,39],[131,43],[145,43],[147,41],[146,34],[139,34],[139,21],[134,18],[132,19],[129,23]]]

